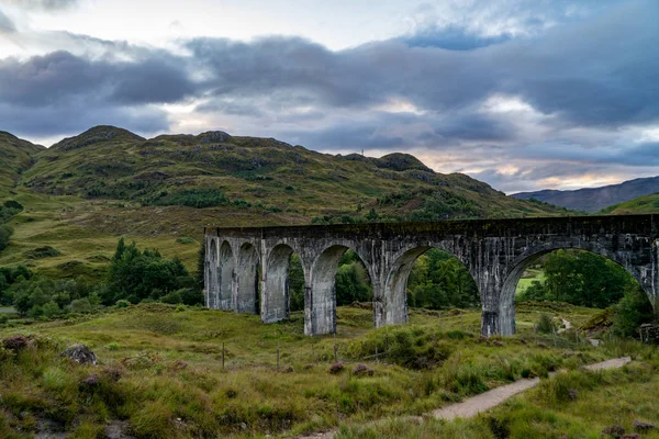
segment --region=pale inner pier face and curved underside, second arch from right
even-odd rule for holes
[[[444,243],[409,246],[399,251],[394,256],[393,263],[390,266],[384,280],[382,325],[401,325],[407,323],[407,280],[416,259],[432,248],[451,255],[466,266]],[[473,277],[471,271],[470,274]]]

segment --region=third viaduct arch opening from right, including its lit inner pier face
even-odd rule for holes
[[[359,255],[343,245],[334,245],[316,258],[306,293],[305,334],[336,333],[336,306],[372,300],[370,277]]]

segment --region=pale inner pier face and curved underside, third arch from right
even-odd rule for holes
[[[344,244],[334,244],[322,250],[311,267],[311,288],[304,297],[304,333],[323,335],[336,333],[336,273],[338,261],[351,249],[367,268],[371,269],[361,255]],[[372,282],[372,277],[370,278]]]

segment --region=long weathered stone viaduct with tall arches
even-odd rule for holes
[[[304,269],[304,333],[334,333],[335,274],[343,254],[353,249],[371,279],[375,326],[404,324],[410,271],[435,247],[462,261],[476,280],[481,334],[511,335],[520,277],[536,258],[560,248],[619,263],[658,311],[658,237],[654,215],[206,228],[205,300],[211,308],[237,313],[260,307],[265,323],[288,318],[289,258],[295,252]]]

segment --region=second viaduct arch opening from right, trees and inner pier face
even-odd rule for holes
[[[465,264],[431,246],[404,252],[389,270],[384,284],[384,325],[404,324],[410,306],[440,309],[480,304],[478,286]]]

